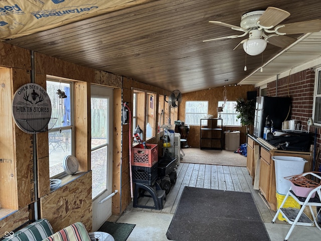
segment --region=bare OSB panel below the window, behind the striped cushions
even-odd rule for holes
[[[40,199],[41,217],[47,218],[54,231],[83,222],[92,230],[91,171]]]

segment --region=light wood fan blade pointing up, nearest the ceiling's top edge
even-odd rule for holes
[[[274,27],[289,16],[290,13],[285,10],[268,7],[258,21],[263,27]]]

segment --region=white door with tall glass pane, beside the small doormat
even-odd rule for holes
[[[92,228],[111,216],[113,90],[91,85]]]

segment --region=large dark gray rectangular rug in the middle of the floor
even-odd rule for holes
[[[185,187],[170,240],[270,241],[251,193]]]

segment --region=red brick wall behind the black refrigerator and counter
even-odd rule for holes
[[[314,78],[314,70],[306,69],[267,84],[268,96],[291,97],[290,119],[300,121],[300,127],[302,125],[303,130],[308,129],[307,120],[312,117]],[[311,126],[309,131],[311,133],[316,132],[316,150],[318,150],[321,145],[321,129]],[[321,159],[317,151],[316,160],[314,171],[318,171],[321,165]]]

